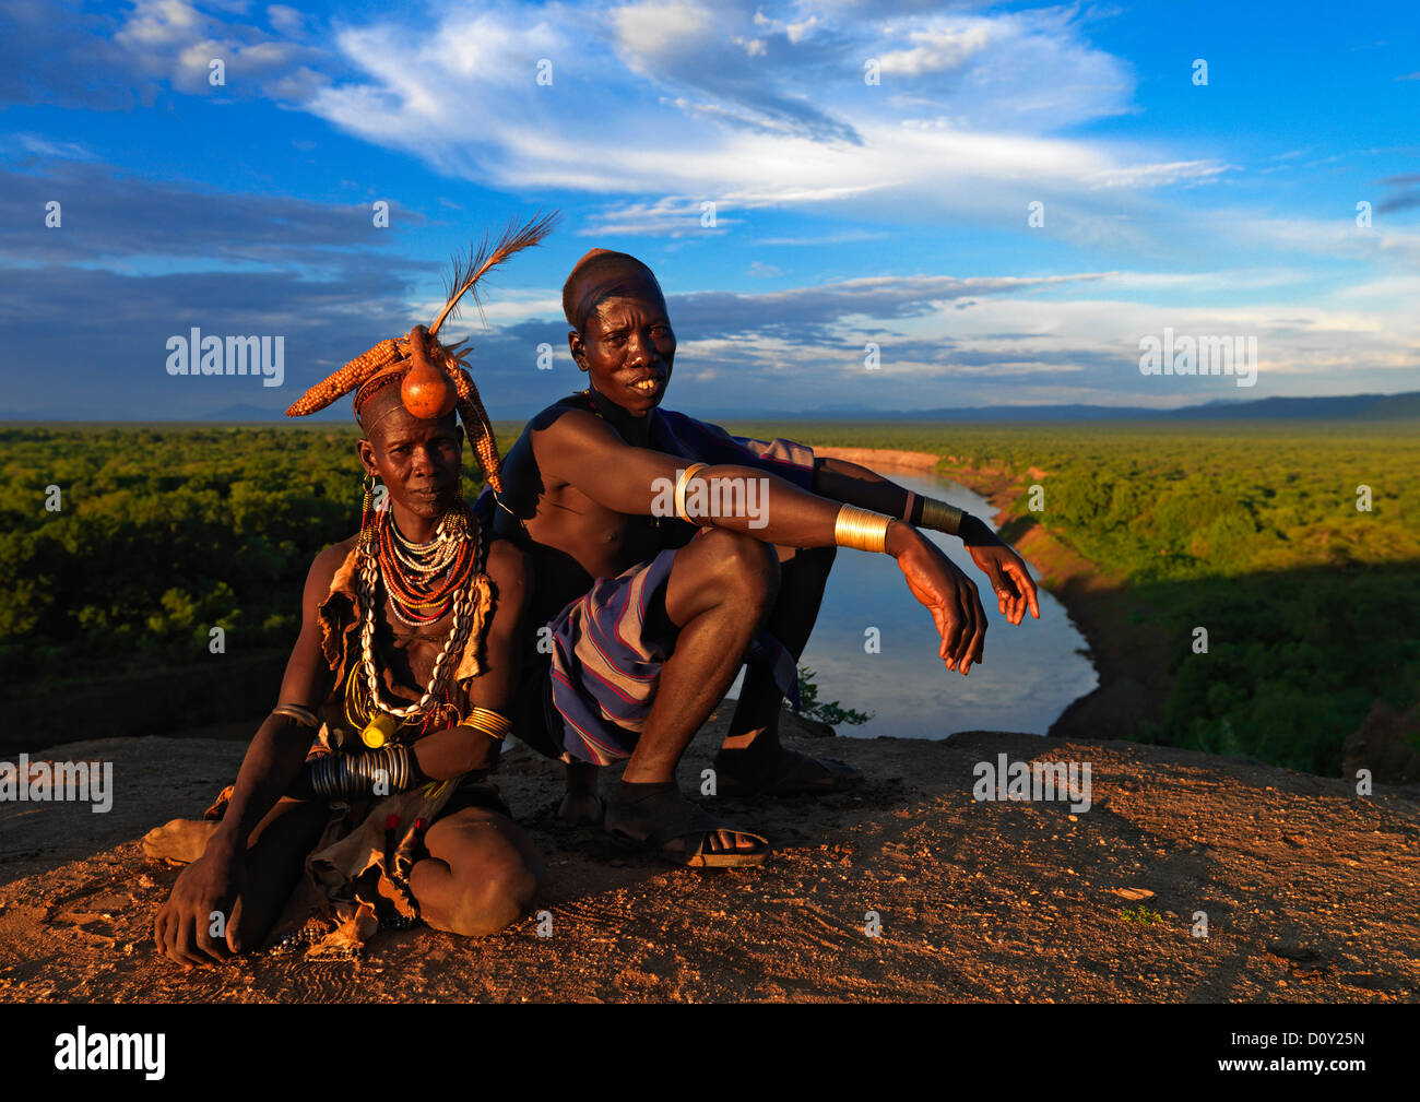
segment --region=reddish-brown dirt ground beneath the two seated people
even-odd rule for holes
[[[723,723],[692,746],[687,792]],[[515,747],[498,782],[547,858],[551,936],[535,915],[480,940],[420,926],[378,934],[361,960],[257,954],[189,973],[153,956],[178,868],[138,839],[199,817],[244,743],[51,747],[43,757],[112,761],[116,794],[108,814],[0,805],[0,1001],[1420,997],[1416,787],[1358,797],[1269,765],[1030,734],[787,741],[869,780],[819,801],[707,800],[771,838],[763,868],[676,869],[558,829],[561,767]],[[974,765],[1003,753],[1089,763],[1093,805],[976,801]]]

